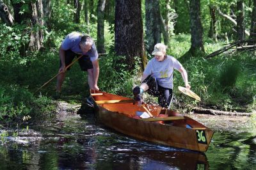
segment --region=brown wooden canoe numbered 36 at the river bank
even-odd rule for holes
[[[213,131],[188,116],[157,105],[143,107],[131,98],[102,91],[91,93],[97,105],[97,119],[122,134],[177,148],[207,151]],[[140,118],[136,112],[150,112],[152,118]]]

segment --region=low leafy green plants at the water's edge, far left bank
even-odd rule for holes
[[[51,100],[45,97],[35,98],[26,88],[0,86],[0,122],[28,121],[29,117],[35,121],[37,116],[42,118],[40,114],[53,111],[49,109],[51,105]]]

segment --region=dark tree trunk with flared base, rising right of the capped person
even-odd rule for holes
[[[190,29],[191,29],[191,54],[204,52],[203,27],[200,16],[200,0],[191,0],[189,3]]]

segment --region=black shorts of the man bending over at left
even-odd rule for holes
[[[72,50],[65,50],[65,65],[68,66],[70,63],[72,63],[73,59],[75,57],[79,57],[80,54],[76,54],[72,52]],[[88,69],[92,69],[92,61],[89,56],[82,56],[79,60],[79,65],[82,71],[87,71]],[[61,67],[61,61],[60,61],[60,67]],[[70,66],[71,67],[71,66]],[[70,67],[67,68],[67,70],[70,70]]]

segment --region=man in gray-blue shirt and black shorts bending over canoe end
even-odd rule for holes
[[[66,66],[72,63],[75,57],[83,55],[78,61],[82,71],[88,72],[88,84],[90,89],[99,90],[97,86],[99,78],[99,54],[92,38],[79,32],[72,32],[66,36],[60,46],[60,68],[57,77],[56,93],[61,92],[61,86],[65,79]],[[69,70],[70,68],[67,68]]]

